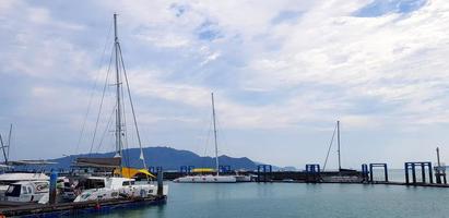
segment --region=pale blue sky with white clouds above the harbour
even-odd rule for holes
[[[447,0],[3,0],[12,159],[114,149],[114,13],[144,146],[213,155],[213,92],[222,155],[322,165],[340,120],[342,167],[449,158]]]

